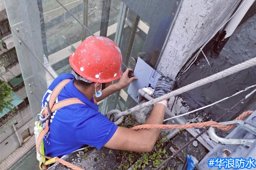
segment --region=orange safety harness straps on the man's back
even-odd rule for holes
[[[63,108],[68,105],[73,105],[73,104],[83,104],[81,100],[78,98],[70,98],[70,99],[65,99],[60,102],[55,103],[55,100],[57,99],[58,94],[61,92],[61,90],[64,88],[65,85],[67,85],[68,82],[70,82],[71,79],[65,79],[62,82],[60,82],[52,91],[52,94],[49,99],[49,103],[47,104],[46,107],[42,108],[41,113],[39,113],[35,119],[35,141],[36,141],[36,151],[37,151],[37,159],[40,162],[39,167],[41,170],[46,170],[49,168],[49,164],[53,164],[56,161],[58,161],[61,164],[64,164],[68,167],[71,167],[72,169],[77,169],[77,170],[82,170],[79,167],[76,167],[73,164],[70,164],[67,161],[64,161],[62,159],[59,159],[58,157],[49,157],[45,156],[44,152],[44,136],[48,135],[49,131],[49,119],[51,117],[52,112],[57,111],[60,108]],[[97,105],[96,100],[94,99],[94,103]],[[43,122],[45,124],[43,125]],[[43,128],[44,126],[44,128]]]

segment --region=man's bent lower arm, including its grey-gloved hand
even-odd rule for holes
[[[154,90],[154,98],[171,92],[172,87],[172,79],[160,77]],[[156,103],[145,124],[163,124],[166,104],[166,100]],[[154,147],[160,131],[160,129],[131,130],[125,127],[118,127],[116,133],[104,146],[117,150],[149,152]]]

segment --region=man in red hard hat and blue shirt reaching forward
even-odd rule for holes
[[[78,98],[84,105],[72,104],[52,112],[49,132],[44,136],[45,155],[61,157],[84,145],[97,149],[104,146],[115,150],[151,151],[160,134],[159,129],[135,131],[119,127],[100,113],[96,104],[137,81],[132,69],[127,68],[122,73],[122,54],[118,46],[107,37],[88,37],[70,55],[69,62],[72,74],[61,74],[52,82],[43,96],[41,107],[47,105],[53,89],[64,79],[71,81],[64,86],[55,102]],[[154,97],[169,93],[172,87],[172,79],[160,77]],[[156,103],[145,124],[162,124],[166,105],[166,100]]]

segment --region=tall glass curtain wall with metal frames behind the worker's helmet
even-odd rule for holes
[[[122,52],[122,70],[138,57],[155,67],[179,1],[5,0],[28,98],[34,116],[50,82],[70,72],[69,56],[85,38],[105,36]],[[90,31],[87,31],[87,29]],[[127,88],[99,103],[105,114],[137,103]]]

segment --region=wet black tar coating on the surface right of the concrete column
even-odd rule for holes
[[[223,71],[241,62],[247,61],[256,57],[256,14],[250,17],[245,23],[241,24],[234,34],[230,37],[227,44],[222,49],[218,57],[210,57],[209,49],[204,49],[210,65],[203,57],[186,71],[176,82],[177,88],[188,85],[197,80],[208,77],[212,74]],[[202,55],[202,54],[201,54]],[[201,86],[180,96],[187,102],[190,110],[209,105],[227,96],[235,94],[250,85],[256,84],[256,67],[248,68],[229,77],[217,80],[207,85]],[[233,105],[239,102],[243,97],[249,94],[254,89],[250,89],[244,93],[227,99],[224,102],[209,107],[202,112],[209,113],[209,119],[216,119],[228,111]],[[225,116],[223,121],[235,119],[242,111],[251,110],[255,107],[253,103],[256,101],[255,94],[251,95],[244,103],[240,103],[233,112]],[[194,116],[194,115],[191,115]]]

